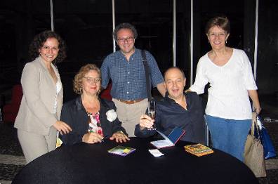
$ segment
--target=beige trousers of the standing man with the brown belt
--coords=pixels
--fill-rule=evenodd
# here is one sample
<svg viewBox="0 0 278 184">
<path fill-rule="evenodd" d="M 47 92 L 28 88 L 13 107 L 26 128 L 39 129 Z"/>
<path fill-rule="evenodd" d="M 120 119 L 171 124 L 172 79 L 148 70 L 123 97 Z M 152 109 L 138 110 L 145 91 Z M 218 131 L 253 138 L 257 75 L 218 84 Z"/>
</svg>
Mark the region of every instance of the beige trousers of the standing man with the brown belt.
<svg viewBox="0 0 278 184">
<path fill-rule="evenodd" d="M 117 115 L 119 121 L 121 121 L 121 126 L 126 129 L 128 137 L 134 137 L 135 125 L 139 124 L 141 115 L 146 113 L 147 98 L 133 104 L 122 103 L 114 98 L 112 100 L 117 107 Z"/>
</svg>

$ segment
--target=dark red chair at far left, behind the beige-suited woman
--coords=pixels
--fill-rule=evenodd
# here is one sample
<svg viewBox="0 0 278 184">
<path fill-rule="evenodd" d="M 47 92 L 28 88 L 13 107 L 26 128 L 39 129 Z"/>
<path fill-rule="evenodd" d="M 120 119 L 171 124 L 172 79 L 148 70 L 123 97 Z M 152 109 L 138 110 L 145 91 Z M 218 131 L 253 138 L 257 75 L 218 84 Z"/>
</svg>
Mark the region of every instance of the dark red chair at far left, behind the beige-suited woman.
<svg viewBox="0 0 278 184">
<path fill-rule="evenodd" d="M 15 121 L 15 117 L 18 115 L 22 95 L 22 86 L 20 84 L 13 86 L 11 103 L 8 103 L 3 107 L 4 122 Z"/>
</svg>

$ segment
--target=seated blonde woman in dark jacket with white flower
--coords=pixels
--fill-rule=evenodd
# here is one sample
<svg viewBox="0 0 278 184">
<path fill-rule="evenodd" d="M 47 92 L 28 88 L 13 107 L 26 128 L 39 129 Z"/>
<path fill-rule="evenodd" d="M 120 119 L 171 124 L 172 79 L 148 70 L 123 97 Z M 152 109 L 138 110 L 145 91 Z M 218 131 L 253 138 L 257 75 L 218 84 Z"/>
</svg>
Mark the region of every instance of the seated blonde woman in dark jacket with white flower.
<svg viewBox="0 0 278 184">
<path fill-rule="evenodd" d="M 72 132 L 60 135 L 63 145 L 75 143 L 101 143 L 104 138 L 126 142 L 129 140 L 125 129 L 117 118 L 112 101 L 101 99 L 100 69 L 88 64 L 74 77 L 74 92 L 80 96 L 62 107 L 61 120 L 72 127 Z"/>
</svg>

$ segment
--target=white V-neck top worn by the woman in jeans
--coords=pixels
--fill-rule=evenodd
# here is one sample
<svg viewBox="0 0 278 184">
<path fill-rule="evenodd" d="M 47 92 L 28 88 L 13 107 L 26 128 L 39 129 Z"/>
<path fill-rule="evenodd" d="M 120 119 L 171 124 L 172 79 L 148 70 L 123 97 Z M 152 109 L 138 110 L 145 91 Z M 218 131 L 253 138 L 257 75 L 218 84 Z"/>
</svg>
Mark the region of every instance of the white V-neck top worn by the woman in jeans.
<svg viewBox="0 0 278 184">
<path fill-rule="evenodd" d="M 252 67 L 244 51 L 233 48 L 223 66 L 214 64 L 208 53 L 199 59 L 191 91 L 204 93 L 210 84 L 206 114 L 225 119 L 252 119 L 248 90 L 256 90 Z"/>
</svg>

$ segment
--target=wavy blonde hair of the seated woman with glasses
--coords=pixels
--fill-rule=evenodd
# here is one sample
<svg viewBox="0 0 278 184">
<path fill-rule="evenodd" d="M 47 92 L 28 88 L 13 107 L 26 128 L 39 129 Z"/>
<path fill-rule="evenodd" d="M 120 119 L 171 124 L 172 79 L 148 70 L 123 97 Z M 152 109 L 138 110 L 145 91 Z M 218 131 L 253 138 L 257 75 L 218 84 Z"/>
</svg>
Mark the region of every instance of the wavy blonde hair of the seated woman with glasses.
<svg viewBox="0 0 278 184">
<path fill-rule="evenodd" d="M 87 64 L 84 65 L 83 67 L 80 68 L 79 72 L 74 76 L 74 80 L 73 80 L 73 90 L 75 93 L 81 95 L 82 94 L 82 79 L 85 77 L 85 75 L 90 71 L 90 70 L 95 70 L 100 78 L 101 78 L 101 72 L 100 72 L 100 68 L 97 67 L 94 64 Z M 101 82 L 101 81 L 100 81 Z M 100 91 L 102 90 L 102 87 L 100 85 L 100 90 L 98 91 L 98 94 L 100 94 Z"/>
</svg>

